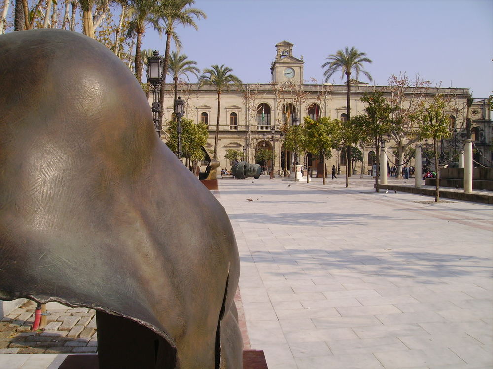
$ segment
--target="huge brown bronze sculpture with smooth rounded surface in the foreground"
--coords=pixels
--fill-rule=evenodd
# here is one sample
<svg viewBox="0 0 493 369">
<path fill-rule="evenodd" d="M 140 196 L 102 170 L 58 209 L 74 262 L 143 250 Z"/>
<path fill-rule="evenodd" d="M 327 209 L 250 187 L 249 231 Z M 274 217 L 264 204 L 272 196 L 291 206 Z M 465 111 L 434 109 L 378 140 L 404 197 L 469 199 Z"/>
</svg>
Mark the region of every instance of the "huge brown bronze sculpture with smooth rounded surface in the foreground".
<svg viewBox="0 0 493 369">
<path fill-rule="evenodd" d="M 231 224 L 136 78 L 75 32 L 0 50 L 0 298 L 96 309 L 100 369 L 241 368 Z"/>
</svg>

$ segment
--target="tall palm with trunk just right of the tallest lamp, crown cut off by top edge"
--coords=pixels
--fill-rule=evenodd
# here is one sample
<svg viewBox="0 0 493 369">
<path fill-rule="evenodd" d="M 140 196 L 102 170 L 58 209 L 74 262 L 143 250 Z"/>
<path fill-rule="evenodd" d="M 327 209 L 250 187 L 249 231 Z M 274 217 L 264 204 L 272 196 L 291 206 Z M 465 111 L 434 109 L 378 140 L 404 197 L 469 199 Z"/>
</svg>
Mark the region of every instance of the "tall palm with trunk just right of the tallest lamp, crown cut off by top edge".
<svg viewBox="0 0 493 369">
<path fill-rule="evenodd" d="M 171 39 L 175 42 L 176 49 L 179 51 L 181 42 L 178 34 L 175 32 L 177 25 L 192 26 L 195 30 L 198 29 L 194 18 L 206 18 L 206 14 L 196 8 L 190 7 L 195 3 L 195 0 L 163 0 L 160 5 L 159 14 L 160 20 L 163 22 L 163 28 L 166 33 L 166 48 L 164 52 L 164 70 L 168 70 L 170 59 L 170 44 Z M 166 83 L 166 73 L 163 76 L 161 83 L 161 91 L 159 92 L 159 104 L 164 106 L 164 88 Z M 163 124 L 163 114 L 160 113 L 159 124 Z"/>
</svg>

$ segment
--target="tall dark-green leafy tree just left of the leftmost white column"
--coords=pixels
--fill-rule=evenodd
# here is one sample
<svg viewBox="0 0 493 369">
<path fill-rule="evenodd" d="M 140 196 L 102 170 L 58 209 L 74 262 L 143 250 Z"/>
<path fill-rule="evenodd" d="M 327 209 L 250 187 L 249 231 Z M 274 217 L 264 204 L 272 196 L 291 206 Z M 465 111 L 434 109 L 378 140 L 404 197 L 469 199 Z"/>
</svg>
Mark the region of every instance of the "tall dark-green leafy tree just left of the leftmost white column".
<svg viewBox="0 0 493 369">
<path fill-rule="evenodd" d="M 365 93 L 360 100 L 367 104 L 366 114 L 356 116 L 353 123 L 361 127 L 361 131 L 370 137 L 375 145 L 375 161 L 377 164 L 377 173 L 375 174 L 375 192 L 380 192 L 379 172 L 380 172 L 380 145 L 382 136 L 387 135 L 392 128 L 391 113 L 394 110 L 385 99 L 383 92 L 373 91 Z"/>
</svg>

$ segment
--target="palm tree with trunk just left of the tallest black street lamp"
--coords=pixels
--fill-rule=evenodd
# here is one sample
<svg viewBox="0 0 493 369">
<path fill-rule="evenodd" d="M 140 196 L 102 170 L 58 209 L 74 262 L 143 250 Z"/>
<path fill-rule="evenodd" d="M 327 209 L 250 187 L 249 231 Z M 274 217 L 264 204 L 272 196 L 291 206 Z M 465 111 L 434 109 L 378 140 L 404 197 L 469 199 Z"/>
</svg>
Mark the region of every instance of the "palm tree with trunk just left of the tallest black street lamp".
<svg viewBox="0 0 493 369">
<path fill-rule="evenodd" d="M 132 9 L 132 18 L 129 25 L 129 34 L 136 34 L 137 41 L 135 43 L 135 77 L 142 83 L 142 54 L 141 43 L 145 29 L 151 25 L 161 34 L 162 27 L 159 25 L 159 7 L 157 0 L 130 0 L 130 8 Z M 161 105 L 162 106 L 162 105 Z"/>
</svg>

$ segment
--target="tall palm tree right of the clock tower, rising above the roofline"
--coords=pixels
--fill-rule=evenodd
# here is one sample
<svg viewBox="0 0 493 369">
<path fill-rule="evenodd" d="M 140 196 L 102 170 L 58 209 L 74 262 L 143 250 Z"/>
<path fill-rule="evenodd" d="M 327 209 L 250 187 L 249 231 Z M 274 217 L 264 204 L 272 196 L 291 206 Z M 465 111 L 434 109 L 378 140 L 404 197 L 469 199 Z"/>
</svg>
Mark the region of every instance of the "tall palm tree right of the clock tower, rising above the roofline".
<svg viewBox="0 0 493 369">
<path fill-rule="evenodd" d="M 346 74 L 346 84 L 347 84 L 347 95 L 346 95 L 346 119 L 349 121 L 350 119 L 350 98 L 351 98 L 351 73 L 354 72 L 356 84 L 358 83 L 359 73 L 363 73 L 370 81 L 372 78 L 370 74 L 363 69 L 363 62 L 371 63 L 372 61 L 366 58 L 365 53 L 360 53 L 358 49 L 354 46 L 349 49 L 348 47 L 345 50 L 338 50 L 335 54 L 329 55 L 327 58 L 328 62 L 322 64 L 322 68 L 327 68 L 323 72 L 323 76 L 325 77 L 325 82 L 329 81 L 329 78 L 338 70 L 342 72 L 341 79 L 344 78 Z M 351 177 L 351 151 L 348 152 L 349 158 L 346 161 L 346 172 L 348 172 L 348 176 Z"/>
</svg>

